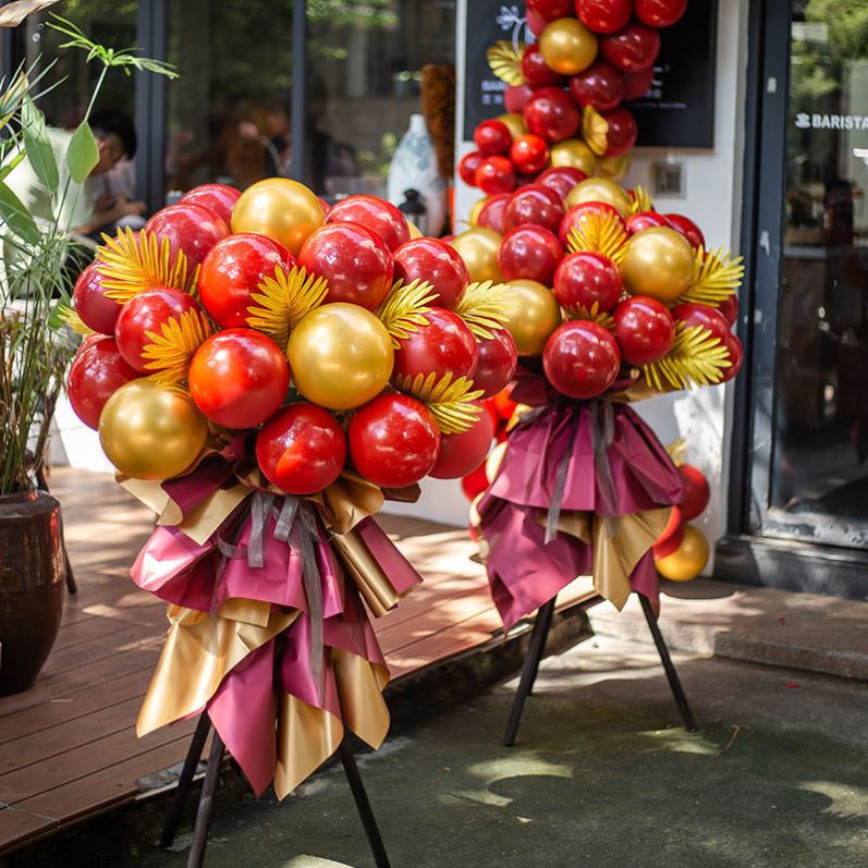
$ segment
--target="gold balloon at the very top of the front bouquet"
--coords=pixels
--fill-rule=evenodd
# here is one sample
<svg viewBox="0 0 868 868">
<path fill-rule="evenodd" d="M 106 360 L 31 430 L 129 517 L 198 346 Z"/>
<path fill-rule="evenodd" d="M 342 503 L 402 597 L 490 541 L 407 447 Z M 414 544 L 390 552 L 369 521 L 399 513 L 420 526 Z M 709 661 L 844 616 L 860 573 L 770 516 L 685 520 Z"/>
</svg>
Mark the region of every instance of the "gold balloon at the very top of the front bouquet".
<svg viewBox="0 0 868 868">
<path fill-rule="evenodd" d="M 233 232 L 258 232 L 289 247 L 293 256 L 307 236 L 322 225 L 319 199 L 304 184 L 289 178 L 257 181 L 241 194 L 232 209 Z"/>
</svg>

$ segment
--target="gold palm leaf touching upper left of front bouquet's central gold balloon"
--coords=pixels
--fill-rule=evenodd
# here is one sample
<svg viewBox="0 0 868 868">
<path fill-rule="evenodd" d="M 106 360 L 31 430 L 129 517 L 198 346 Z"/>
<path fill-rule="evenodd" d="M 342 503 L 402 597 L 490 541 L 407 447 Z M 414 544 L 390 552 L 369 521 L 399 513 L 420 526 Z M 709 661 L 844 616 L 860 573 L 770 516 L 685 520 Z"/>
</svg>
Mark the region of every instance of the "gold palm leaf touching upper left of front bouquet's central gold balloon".
<svg viewBox="0 0 868 868">
<path fill-rule="evenodd" d="M 290 332 L 322 304 L 329 284 L 326 278 L 308 274 L 303 266 L 293 266 L 289 271 L 276 266 L 274 277 L 266 278 L 258 289 L 250 296 L 256 304 L 247 308 L 247 325 L 285 350 Z"/>
</svg>

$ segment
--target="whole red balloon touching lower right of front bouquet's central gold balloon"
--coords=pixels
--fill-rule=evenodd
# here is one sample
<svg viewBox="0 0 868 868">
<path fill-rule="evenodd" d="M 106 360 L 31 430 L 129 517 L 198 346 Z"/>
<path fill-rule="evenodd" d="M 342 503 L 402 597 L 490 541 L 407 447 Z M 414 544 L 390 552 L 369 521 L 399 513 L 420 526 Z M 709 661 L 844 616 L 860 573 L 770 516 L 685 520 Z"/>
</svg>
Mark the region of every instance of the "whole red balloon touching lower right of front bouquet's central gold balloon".
<svg viewBox="0 0 868 868">
<path fill-rule="evenodd" d="M 355 468 L 382 488 L 404 488 L 427 476 L 440 454 L 440 431 L 428 408 L 409 395 L 384 393 L 350 419 Z"/>
</svg>

